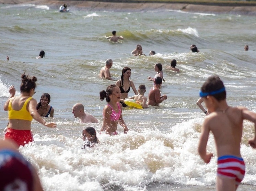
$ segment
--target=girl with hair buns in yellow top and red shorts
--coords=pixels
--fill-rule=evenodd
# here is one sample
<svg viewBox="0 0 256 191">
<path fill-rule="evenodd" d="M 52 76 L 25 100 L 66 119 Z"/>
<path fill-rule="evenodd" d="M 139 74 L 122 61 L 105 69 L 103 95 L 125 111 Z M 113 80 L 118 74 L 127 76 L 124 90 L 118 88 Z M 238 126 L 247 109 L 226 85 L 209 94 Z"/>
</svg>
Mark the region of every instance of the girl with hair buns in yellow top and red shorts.
<svg viewBox="0 0 256 191">
<path fill-rule="evenodd" d="M 19 146 L 33 141 L 31 121 L 34 118 L 46 127 L 56 127 L 56 123 L 46 123 L 36 111 L 36 100 L 32 96 L 36 93 L 36 77 L 21 76 L 20 96 L 15 96 L 14 86 L 10 87 L 11 96 L 5 102 L 3 109 L 8 111 L 9 124 L 5 138 L 13 139 Z"/>
</svg>

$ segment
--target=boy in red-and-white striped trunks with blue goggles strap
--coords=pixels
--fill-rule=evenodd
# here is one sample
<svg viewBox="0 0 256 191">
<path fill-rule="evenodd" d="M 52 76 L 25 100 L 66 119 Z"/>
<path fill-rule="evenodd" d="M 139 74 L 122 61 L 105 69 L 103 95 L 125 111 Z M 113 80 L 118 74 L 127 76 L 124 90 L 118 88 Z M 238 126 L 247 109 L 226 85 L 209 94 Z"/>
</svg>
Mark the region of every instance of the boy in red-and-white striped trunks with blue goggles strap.
<svg viewBox="0 0 256 191">
<path fill-rule="evenodd" d="M 256 113 L 244 107 L 228 106 L 225 87 L 217 76 L 209 77 L 202 85 L 200 97 L 204 99 L 210 114 L 202 125 L 199 155 L 206 163 L 210 162 L 213 154 L 206 152 L 206 146 L 212 131 L 218 156 L 217 191 L 235 191 L 245 174 L 245 164 L 240 153 L 243 120 L 253 122 L 256 129 Z M 248 143 L 256 148 L 256 135 Z"/>
</svg>

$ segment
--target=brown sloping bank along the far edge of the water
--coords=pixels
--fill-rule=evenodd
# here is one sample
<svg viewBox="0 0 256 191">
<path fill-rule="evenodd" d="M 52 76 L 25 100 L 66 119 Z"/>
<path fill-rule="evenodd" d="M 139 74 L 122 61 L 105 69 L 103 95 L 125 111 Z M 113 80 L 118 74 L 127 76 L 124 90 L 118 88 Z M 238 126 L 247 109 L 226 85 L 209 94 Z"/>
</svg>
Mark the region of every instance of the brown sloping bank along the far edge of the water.
<svg viewBox="0 0 256 191">
<path fill-rule="evenodd" d="M 2 4 L 22 4 L 31 3 L 36 5 L 47 5 L 50 8 L 58 9 L 60 5 L 66 3 L 69 8 L 76 7 L 88 10 L 130 10 L 142 11 L 150 9 L 171 9 L 182 10 L 187 12 L 203 12 L 203 13 L 229 13 L 256 15 L 256 4 L 250 6 L 236 5 L 203 5 L 203 4 L 186 4 L 186 3 L 126 3 L 126 2 L 101 2 L 101 1 L 62 1 L 62 0 L 0 0 Z"/>
</svg>

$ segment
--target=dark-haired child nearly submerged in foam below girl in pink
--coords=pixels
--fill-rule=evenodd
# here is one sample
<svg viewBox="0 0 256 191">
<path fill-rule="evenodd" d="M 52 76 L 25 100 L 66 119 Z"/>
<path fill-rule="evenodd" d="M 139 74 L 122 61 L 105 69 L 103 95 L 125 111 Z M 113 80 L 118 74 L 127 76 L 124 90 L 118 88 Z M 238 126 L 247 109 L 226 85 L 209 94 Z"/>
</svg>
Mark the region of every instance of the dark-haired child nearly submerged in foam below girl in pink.
<svg viewBox="0 0 256 191">
<path fill-rule="evenodd" d="M 82 131 L 83 140 L 85 143 L 83 144 L 83 148 L 85 147 L 94 147 L 95 143 L 100 143 L 97 138 L 95 128 L 93 127 L 86 127 Z"/>
</svg>

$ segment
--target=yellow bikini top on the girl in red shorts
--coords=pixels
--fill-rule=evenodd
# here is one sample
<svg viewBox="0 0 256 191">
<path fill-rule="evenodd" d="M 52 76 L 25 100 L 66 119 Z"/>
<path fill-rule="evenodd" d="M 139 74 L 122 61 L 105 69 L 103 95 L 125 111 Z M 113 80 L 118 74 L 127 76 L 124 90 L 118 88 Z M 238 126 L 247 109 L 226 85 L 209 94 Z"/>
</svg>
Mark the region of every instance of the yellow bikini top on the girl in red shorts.
<svg viewBox="0 0 256 191">
<path fill-rule="evenodd" d="M 32 97 L 27 98 L 24 105 L 22 106 L 22 108 L 19 111 L 12 109 L 12 100 L 13 99 L 10 99 L 9 105 L 8 105 L 9 119 L 23 119 L 23 120 L 27 120 L 27 121 L 32 121 L 33 118 L 31 116 L 31 114 L 27 111 L 27 103 L 31 99 L 32 99 Z"/>
</svg>

